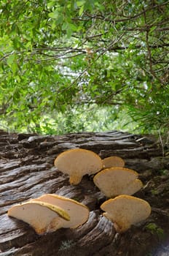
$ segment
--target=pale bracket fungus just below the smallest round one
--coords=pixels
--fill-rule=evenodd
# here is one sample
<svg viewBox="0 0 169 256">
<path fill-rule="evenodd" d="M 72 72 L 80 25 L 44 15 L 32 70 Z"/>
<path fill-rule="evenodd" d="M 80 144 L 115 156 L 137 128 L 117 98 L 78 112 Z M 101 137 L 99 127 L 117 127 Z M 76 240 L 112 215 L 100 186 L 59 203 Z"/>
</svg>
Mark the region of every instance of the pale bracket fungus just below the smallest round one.
<svg viewBox="0 0 169 256">
<path fill-rule="evenodd" d="M 137 179 L 138 173 L 124 167 L 111 167 L 101 170 L 93 178 L 95 185 L 106 197 L 133 195 L 143 184 Z"/>
</svg>

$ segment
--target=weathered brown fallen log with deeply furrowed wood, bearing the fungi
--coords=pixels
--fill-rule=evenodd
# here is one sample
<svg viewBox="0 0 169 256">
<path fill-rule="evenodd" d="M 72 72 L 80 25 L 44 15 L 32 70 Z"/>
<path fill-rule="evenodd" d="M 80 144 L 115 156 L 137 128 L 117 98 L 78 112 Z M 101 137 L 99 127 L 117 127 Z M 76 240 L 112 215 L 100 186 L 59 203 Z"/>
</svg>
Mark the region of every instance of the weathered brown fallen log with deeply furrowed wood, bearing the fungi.
<svg viewBox="0 0 169 256">
<path fill-rule="evenodd" d="M 154 138 L 124 132 L 28 135 L 0 132 L 0 255 L 167 256 L 169 255 L 169 157 Z M 144 188 L 135 194 L 147 200 L 152 214 L 146 221 L 117 234 L 100 209 L 106 197 L 84 176 L 76 186 L 53 166 L 69 148 L 86 148 L 101 158 L 116 155 L 136 170 Z M 164 152 L 163 152 L 164 153 Z M 16 203 L 55 193 L 90 208 L 88 221 L 74 230 L 60 229 L 38 236 L 24 222 L 7 217 Z"/>
</svg>

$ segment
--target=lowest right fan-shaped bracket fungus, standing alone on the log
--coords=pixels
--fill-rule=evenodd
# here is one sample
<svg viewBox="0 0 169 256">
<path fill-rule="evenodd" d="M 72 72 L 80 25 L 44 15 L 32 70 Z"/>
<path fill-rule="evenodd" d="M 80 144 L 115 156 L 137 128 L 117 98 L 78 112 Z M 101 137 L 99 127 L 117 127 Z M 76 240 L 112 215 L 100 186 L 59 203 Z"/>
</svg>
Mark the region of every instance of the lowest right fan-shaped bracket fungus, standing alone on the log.
<svg viewBox="0 0 169 256">
<path fill-rule="evenodd" d="M 101 205 L 103 215 L 114 222 L 118 233 L 125 232 L 131 225 L 143 221 L 151 214 L 151 206 L 143 199 L 131 195 L 119 195 Z"/>
</svg>

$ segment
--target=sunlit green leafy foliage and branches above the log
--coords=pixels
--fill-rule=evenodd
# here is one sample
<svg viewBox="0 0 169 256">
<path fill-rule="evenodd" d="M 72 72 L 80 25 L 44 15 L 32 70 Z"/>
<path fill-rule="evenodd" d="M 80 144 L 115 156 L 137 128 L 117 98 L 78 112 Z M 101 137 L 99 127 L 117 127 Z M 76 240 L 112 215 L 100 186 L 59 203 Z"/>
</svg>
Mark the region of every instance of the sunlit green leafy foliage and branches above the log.
<svg viewBox="0 0 169 256">
<path fill-rule="evenodd" d="M 1 127 L 168 130 L 169 1 L 1 0 L 0 28 Z"/>
</svg>

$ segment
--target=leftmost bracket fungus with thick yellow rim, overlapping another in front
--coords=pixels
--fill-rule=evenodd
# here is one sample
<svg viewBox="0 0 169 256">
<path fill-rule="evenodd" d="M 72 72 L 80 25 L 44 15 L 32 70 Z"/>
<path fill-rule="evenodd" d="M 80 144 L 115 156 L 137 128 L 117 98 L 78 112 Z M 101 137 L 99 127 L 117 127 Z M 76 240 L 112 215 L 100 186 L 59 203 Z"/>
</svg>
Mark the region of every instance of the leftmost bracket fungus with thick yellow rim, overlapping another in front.
<svg viewBox="0 0 169 256">
<path fill-rule="evenodd" d="M 34 200 L 12 206 L 9 208 L 8 216 L 28 223 L 39 235 L 58 230 L 62 219 L 67 222 L 70 219 L 62 208 Z"/>
</svg>

